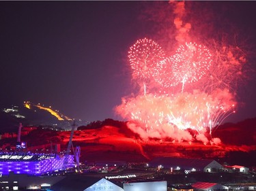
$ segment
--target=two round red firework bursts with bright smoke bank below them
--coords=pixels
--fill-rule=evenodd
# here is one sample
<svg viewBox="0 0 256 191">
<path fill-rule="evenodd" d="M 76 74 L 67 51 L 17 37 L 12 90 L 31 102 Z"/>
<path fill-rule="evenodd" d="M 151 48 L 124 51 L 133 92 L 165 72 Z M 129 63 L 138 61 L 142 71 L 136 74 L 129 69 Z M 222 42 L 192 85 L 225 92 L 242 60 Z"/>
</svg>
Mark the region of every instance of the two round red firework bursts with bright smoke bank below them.
<svg viewBox="0 0 256 191">
<path fill-rule="evenodd" d="M 143 43 L 143 49 L 141 49 L 141 43 Z M 153 45 L 155 48 L 152 48 Z M 205 137 L 206 129 L 208 128 L 211 134 L 215 126 L 234 113 L 236 101 L 235 94 L 223 86 L 211 91 L 195 88 L 198 82 L 203 84 L 207 81 L 208 84 L 211 80 L 211 75 L 205 75 L 212 69 L 211 65 L 216 64 L 212 60 L 210 51 L 205 46 L 186 43 L 185 46 L 180 46 L 171 58 L 162 58 L 163 53 L 159 53 L 162 52 L 159 46 L 147 39 L 137 41 L 131 50 L 134 50 L 129 52 L 132 76 L 136 76 L 137 80 L 143 80 L 143 82 L 155 80 L 158 86 L 155 83 L 154 91 L 149 88 L 147 94 L 144 92 L 137 97 L 124 98 L 122 105 L 116 108 L 117 113 L 123 118 L 133 121 L 129 125 L 130 128 L 145 139 L 171 137 L 179 142 L 193 139 L 205 144 L 221 142 L 209 141 Z M 150 62 L 145 61 L 146 58 L 150 58 Z M 146 63 L 148 65 L 145 65 Z M 218 75 L 221 77 L 225 73 Z M 185 82 L 188 82 L 186 88 L 184 88 Z M 182 88 L 177 86 L 179 83 L 182 84 Z M 140 85 L 145 86 L 145 83 Z M 162 89 L 168 89 L 171 86 L 177 86 L 171 94 L 161 92 Z M 198 135 L 193 138 L 188 131 L 185 131 L 188 129 L 197 131 Z"/>
</svg>

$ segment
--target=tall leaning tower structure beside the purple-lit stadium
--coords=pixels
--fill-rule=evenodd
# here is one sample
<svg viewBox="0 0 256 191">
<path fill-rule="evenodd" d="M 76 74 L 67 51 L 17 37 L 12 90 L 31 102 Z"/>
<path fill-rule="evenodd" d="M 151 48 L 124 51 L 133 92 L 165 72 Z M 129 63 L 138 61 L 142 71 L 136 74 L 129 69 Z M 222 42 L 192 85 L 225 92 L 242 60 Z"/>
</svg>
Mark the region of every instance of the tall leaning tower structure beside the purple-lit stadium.
<svg viewBox="0 0 256 191">
<path fill-rule="evenodd" d="M 74 135 L 74 128 L 75 127 L 76 127 L 76 124 L 75 124 L 75 122 L 73 122 L 72 128 L 71 128 L 71 133 L 70 133 L 70 141 L 68 141 L 68 148 L 66 150 L 66 154 L 65 154 L 64 160 L 63 160 L 63 166 L 62 166 L 63 170 L 66 170 L 69 167 L 70 163 L 68 162 L 68 158 L 70 156 L 70 150 L 71 150 L 71 147 L 72 147 L 72 150 L 74 152 L 74 160 L 76 162 L 76 168 L 77 168 L 78 171 L 80 171 L 80 169 L 79 169 L 80 147 L 77 146 L 76 150 L 74 151 L 74 147 L 73 147 L 73 144 L 72 144 L 72 138 L 73 138 L 73 135 Z"/>
</svg>

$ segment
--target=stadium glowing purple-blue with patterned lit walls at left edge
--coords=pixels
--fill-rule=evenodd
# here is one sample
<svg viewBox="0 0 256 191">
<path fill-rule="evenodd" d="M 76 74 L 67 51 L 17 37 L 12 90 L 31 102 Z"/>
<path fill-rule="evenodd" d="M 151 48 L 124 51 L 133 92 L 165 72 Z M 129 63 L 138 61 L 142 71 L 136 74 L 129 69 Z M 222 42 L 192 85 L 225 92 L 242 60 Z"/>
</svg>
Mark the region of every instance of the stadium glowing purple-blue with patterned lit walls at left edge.
<svg viewBox="0 0 256 191">
<path fill-rule="evenodd" d="M 73 155 L 64 156 L 58 154 L 31 154 L 19 152 L 0 153 L 1 175 L 9 175 L 11 171 L 15 174 L 42 175 L 72 167 L 74 167 Z"/>
</svg>

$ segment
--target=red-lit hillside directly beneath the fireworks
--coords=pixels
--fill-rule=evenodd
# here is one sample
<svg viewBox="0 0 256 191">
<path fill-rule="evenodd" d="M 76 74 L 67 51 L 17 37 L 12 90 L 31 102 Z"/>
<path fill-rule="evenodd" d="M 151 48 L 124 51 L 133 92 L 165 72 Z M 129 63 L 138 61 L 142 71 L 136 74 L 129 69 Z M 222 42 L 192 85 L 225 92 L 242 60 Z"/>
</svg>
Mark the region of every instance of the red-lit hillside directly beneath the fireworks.
<svg viewBox="0 0 256 191">
<path fill-rule="evenodd" d="M 249 124 L 254 122 L 255 120 L 249 120 Z M 116 126 L 106 125 L 111 123 L 115 123 Z M 248 121 L 246 120 L 245 123 Z M 221 137 L 223 144 L 203 145 L 203 143 L 173 143 L 156 139 L 143 141 L 125 126 L 125 122 L 107 119 L 103 122 L 94 122 L 94 125 L 79 127 L 79 130 L 74 131 L 72 142 L 74 147 L 81 147 L 81 162 L 102 160 L 147 162 L 158 156 L 176 156 L 216 158 L 216 160 L 229 162 L 229 164 L 253 166 L 256 161 L 255 134 L 253 134 L 255 128 L 248 128 L 251 132 L 248 133 L 249 137 L 243 137 L 244 140 L 253 140 L 241 144 L 241 135 L 233 131 L 234 129 L 242 131 L 242 129 L 239 130 L 242 124 L 243 122 L 240 122 L 238 126 L 235 124 L 220 126 L 214 133 Z M 234 137 L 226 141 L 223 137 L 229 132 L 229 135 L 234 135 Z M 51 147 L 54 148 L 57 144 L 61 145 L 61 151 L 65 151 L 69 139 L 70 131 L 53 131 L 48 128 L 38 128 L 22 137 L 31 152 L 51 152 Z M 14 144 L 15 141 L 16 139 L 12 143 Z"/>
</svg>

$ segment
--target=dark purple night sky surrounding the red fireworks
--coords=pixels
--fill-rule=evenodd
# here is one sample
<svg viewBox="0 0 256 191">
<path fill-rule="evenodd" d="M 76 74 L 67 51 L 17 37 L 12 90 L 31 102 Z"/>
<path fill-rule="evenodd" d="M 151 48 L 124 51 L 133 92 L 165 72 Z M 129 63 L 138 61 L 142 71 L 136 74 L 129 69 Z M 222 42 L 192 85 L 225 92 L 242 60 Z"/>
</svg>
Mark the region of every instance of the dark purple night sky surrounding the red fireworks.
<svg viewBox="0 0 256 191">
<path fill-rule="evenodd" d="M 31 101 L 51 105 L 71 118 L 120 119 L 113 107 L 133 91 L 128 48 L 150 26 L 139 19 L 141 4 L 1 1 L 1 108 Z M 233 8 L 234 24 L 255 35 L 256 1 Z M 245 105 L 230 120 L 256 116 L 255 88 L 253 80 L 240 88 Z"/>
</svg>

